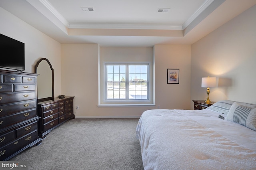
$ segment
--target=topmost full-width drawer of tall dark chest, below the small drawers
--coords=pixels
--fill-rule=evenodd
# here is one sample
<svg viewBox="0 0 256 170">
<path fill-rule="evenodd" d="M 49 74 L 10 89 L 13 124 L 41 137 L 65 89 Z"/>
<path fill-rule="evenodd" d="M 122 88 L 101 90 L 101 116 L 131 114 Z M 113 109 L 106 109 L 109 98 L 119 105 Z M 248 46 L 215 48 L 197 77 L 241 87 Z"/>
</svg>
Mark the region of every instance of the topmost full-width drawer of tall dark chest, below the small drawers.
<svg viewBox="0 0 256 170">
<path fill-rule="evenodd" d="M 0 94 L 0 105 L 32 99 L 36 99 L 36 92 Z"/>
</svg>

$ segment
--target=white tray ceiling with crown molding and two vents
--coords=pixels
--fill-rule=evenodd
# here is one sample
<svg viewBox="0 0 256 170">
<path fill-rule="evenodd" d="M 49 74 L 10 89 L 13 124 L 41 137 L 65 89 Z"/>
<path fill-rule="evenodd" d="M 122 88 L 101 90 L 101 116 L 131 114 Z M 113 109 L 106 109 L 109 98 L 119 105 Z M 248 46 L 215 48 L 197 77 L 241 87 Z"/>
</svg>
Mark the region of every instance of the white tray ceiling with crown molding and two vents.
<svg viewBox="0 0 256 170">
<path fill-rule="evenodd" d="M 255 4 L 256 0 L 0 1 L 0 7 L 60 43 L 101 46 L 192 44 Z"/>
</svg>

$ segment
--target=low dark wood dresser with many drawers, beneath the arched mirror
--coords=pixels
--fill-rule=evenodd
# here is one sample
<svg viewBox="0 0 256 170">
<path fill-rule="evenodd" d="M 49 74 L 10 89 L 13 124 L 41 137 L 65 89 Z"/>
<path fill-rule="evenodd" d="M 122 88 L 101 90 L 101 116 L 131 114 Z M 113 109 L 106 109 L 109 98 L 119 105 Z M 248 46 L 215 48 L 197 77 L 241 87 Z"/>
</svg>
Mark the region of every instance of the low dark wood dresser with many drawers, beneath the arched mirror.
<svg viewBox="0 0 256 170">
<path fill-rule="evenodd" d="M 54 98 L 51 101 L 38 103 L 39 136 L 45 138 L 50 131 L 69 119 L 74 119 L 74 97 Z"/>
</svg>

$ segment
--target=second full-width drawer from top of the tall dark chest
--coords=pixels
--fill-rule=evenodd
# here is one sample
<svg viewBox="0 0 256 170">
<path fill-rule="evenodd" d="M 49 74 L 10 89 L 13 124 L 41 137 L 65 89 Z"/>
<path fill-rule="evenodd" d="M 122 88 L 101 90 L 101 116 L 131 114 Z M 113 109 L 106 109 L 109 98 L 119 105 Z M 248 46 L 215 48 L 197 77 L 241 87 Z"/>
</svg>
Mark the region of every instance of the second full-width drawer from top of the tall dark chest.
<svg viewBox="0 0 256 170">
<path fill-rule="evenodd" d="M 26 111 L 34 108 L 36 108 L 36 100 L 15 103 L 10 105 L 0 105 L 0 117 L 4 117 L 7 115 L 11 115 L 13 113 L 18 113 L 21 111 Z"/>
</svg>

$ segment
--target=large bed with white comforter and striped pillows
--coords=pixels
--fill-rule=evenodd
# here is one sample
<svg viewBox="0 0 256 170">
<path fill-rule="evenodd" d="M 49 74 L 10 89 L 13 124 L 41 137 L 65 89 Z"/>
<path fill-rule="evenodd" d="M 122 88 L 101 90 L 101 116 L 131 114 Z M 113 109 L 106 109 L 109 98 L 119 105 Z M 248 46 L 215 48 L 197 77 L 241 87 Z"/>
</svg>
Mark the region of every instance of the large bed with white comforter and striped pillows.
<svg viewBox="0 0 256 170">
<path fill-rule="evenodd" d="M 145 111 L 136 134 L 144 170 L 256 170 L 255 130 L 256 105 L 225 100 Z"/>
</svg>

